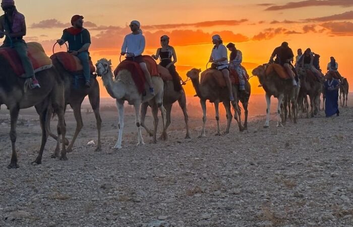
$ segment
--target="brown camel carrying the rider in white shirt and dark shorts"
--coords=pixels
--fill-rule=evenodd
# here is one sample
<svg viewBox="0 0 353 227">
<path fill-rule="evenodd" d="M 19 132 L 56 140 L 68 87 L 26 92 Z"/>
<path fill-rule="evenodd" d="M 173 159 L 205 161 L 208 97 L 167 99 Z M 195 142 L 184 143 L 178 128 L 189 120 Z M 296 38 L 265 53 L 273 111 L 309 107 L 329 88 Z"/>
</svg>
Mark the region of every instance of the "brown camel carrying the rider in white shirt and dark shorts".
<svg viewBox="0 0 353 227">
<path fill-rule="evenodd" d="M 203 125 L 201 135 L 199 137 L 206 137 L 205 127 L 207 121 L 206 115 L 206 100 L 209 100 L 211 103 L 214 103 L 214 108 L 216 112 L 216 121 L 217 121 L 217 133 L 216 135 L 221 135 L 219 128 L 219 102 L 222 102 L 226 111 L 227 118 L 227 126 L 225 129 L 225 133 L 229 133 L 230 123 L 232 119 L 231 111 L 230 111 L 230 100 L 229 100 L 229 92 L 227 89 L 223 87 L 219 87 L 214 81 L 214 77 L 211 77 L 213 80 L 208 80 L 207 82 L 200 84 L 199 74 L 201 73 L 201 69 L 192 69 L 187 72 L 187 76 L 191 79 L 193 86 L 195 88 L 197 96 L 200 98 L 201 107 L 203 110 Z M 206 73 L 213 73 L 213 71 L 208 71 Z M 235 97 L 234 97 L 235 99 Z M 240 125 L 240 129 L 243 130 Z"/>
</svg>

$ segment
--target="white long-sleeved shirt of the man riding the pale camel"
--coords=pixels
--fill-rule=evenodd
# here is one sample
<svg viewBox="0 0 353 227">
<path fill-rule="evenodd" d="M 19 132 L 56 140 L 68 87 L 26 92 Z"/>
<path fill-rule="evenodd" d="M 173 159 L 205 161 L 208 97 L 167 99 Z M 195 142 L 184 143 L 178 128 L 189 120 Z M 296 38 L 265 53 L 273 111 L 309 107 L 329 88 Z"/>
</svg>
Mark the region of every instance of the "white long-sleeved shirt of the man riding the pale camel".
<svg viewBox="0 0 353 227">
<path fill-rule="evenodd" d="M 134 53 L 134 56 L 139 56 L 142 55 L 145 50 L 145 46 L 145 36 L 141 33 L 137 35 L 131 33 L 124 38 L 122 52 Z"/>
</svg>

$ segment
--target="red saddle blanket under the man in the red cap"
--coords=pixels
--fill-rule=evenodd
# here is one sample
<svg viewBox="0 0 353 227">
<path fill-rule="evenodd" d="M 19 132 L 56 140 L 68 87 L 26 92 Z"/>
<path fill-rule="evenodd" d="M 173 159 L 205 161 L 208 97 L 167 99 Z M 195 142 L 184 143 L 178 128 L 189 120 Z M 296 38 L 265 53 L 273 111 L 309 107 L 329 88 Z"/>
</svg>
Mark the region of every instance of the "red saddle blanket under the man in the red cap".
<svg viewBox="0 0 353 227">
<path fill-rule="evenodd" d="M 57 61 L 59 61 L 63 65 L 64 69 L 66 69 L 71 73 L 76 73 L 83 70 L 80 59 L 77 58 L 77 56 L 74 56 L 68 52 L 54 53 L 53 55 L 50 56 L 50 59 L 53 60 L 54 58 L 56 58 Z M 89 59 L 89 66 L 90 66 L 90 73 L 91 74 L 94 73 L 96 69 L 94 68 L 91 59 Z"/>
</svg>

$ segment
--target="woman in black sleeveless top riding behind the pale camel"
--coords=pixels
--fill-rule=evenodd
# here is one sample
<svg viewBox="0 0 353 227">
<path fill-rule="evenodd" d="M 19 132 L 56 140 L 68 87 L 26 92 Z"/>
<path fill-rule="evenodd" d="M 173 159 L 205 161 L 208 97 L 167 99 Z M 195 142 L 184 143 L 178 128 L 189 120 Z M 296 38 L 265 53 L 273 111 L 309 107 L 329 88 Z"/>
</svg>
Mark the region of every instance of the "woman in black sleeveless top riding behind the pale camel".
<svg viewBox="0 0 353 227">
<path fill-rule="evenodd" d="M 157 49 L 156 54 L 152 54 L 152 58 L 157 60 L 160 58 L 159 65 L 168 69 L 172 79 L 175 91 L 182 91 L 183 87 L 180 83 L 180 76 L 175 69 L 174 64 L 177 63 L 177 53 L 175 53 L 175 49 L 169 45 L 169 37 L 167 35 L 163 35 L 160 37 L 161 48 Z M 173 61 L 171 61 L 173 58 Z"/>
</svg>

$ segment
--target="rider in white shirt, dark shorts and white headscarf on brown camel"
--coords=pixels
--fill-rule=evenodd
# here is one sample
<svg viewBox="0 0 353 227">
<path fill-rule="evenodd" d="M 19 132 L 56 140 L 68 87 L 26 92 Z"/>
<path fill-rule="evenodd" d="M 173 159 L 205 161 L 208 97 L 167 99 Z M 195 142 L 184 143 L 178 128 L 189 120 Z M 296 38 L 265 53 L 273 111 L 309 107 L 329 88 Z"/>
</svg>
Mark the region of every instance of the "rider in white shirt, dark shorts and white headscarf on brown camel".
<svg viewBox="0 0 353 227">
<path fill-rule="evenodd" d="M 231 82 L 228 70 L 228 53 L 227 48 L 223 45 L 223 40 L 219 35 L 212 36 L 214 47 L 211 52 L 209 62 L 212 63 L 212 68 L 222 72 L 229 91 L 229 100 L 234 101 Z"/>
</svg>

